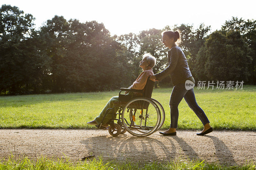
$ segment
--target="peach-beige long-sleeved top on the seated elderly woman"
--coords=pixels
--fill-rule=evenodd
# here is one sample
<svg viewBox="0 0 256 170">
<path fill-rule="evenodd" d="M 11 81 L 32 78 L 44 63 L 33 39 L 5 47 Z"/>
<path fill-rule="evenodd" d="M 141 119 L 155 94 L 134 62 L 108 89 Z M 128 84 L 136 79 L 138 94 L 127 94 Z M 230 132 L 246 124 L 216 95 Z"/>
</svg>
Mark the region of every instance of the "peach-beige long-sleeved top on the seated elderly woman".
<svg viewBox="0 0 256 170">
<path fill-rule="evenodd" d="M 152 68 L 148 66 L 147 69 L 142 71 L 142 73 L 140 73 L 140 76 L 128 88 L 136 89 L 136 90 L 144 89 L 144 87 L 147 83 L 148 77 L 152 76 L 153 74 L 154 74 L 154 72 L 153 72 Z M 155 81 L 155 80 L 152 80 L 152 81 Z"/>
</svg>

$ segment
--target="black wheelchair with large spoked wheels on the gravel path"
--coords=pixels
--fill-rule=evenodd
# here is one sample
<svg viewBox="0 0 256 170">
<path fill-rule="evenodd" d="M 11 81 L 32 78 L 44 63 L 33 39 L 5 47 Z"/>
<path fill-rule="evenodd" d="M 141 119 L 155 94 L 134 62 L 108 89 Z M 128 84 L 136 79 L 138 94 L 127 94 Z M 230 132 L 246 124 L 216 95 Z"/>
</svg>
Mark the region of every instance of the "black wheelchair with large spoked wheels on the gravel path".
<svg viewBox="0 0 256 170">
<path fill-rule="evenodd" d="M 111 136 L 118 136 L 128 131 L 136 137 L 146 137 L 160 129 L 164 124 L 165 112 L 163 106 L 155 99 L 152 99 L 152 92 L 155 82 L 148 78 L 143 90 L 121 88 L 118 101 L 113 108 L 108 108 L 99 125 L 107 114 L 112 114 L 112 119 L 107 123 L 108 132 Z M 141 94 L 141 97 L 134 97 L 131 94 L 121 94 L 121 92 L 134 92 Z M 118 118 L 114 118 L 114 108 L 118 107 Z M 112 110 L 112 112 L 111 112 Z M 115 123 L 116 122 L 116 123 Z"/>
</svg>

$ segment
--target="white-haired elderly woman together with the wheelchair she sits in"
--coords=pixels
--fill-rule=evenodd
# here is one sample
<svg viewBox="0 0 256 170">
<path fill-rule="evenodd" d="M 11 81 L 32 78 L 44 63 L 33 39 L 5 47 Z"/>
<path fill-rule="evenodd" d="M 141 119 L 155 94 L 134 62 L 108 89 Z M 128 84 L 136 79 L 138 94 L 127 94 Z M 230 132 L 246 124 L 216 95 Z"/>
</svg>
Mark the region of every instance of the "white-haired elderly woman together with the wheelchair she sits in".
<svg viewBox="0 0 256 170">
<path fill-rule="evenodd" d="M 134 136 L 144 137 L 160 129 L 164 121 L 163 118 L 161 122 L 161 111 L 164 114 L 164 109 L 158 101 L 151 99 L 155 81 L 149 79 L 151 75 L 154 75 L 152 68 L 155 64 L 154 56 L 149 53 L 144 54 L 140 61 L 143 71 L 139 77 L 130 87 L 121 88 L 119 95 L 112 97 L 100 115 L 87 124 L 95 125 L 100 129 L 108 129 L 112 136 L 128 131 Z M 116 119 L 117 111 L 118 119 Z"/>
</svg>

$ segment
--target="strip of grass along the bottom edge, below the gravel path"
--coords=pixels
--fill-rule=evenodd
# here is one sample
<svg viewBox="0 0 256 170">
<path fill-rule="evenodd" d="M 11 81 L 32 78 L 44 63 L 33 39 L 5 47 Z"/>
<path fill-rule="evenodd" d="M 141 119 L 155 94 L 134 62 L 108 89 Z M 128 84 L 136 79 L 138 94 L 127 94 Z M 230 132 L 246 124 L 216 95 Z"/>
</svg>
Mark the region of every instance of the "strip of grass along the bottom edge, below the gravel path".
<svg viewBox="0 0 256 170">
<path fill-rule="evenodd" d="M 102 161 L 101 158 L 94 158 L 92 160 L 88 160 L 85 162 L 71 162 L 68 160 L 59 159 L 58 161 L 53 161 L 51 159 L 47 159 L 41 157 L 40 159 L 33 161 L 28 158 L 15 160 L 13 157 L 10 157 L 8 160 L 0 161 L 0 170 L 2 169 L 13 169 L 13 170 L 21 170 L 21 169 L 37 169 L 37 170 L 55 170 L 55 169 L 88 169 L 88 170 L 100 170 L 100 169 L 139 169 L 139 170 L 149 170 L 149 169 L 157 169 L 157 170 L 165 170 L 165 169 L 209 169 L 209 170 L 219 170 L 219 169 L 237 169 L 237 170 L 255 170 L 256 166 L 253 163 L 247 163 L 241 166 L 222 166 L 215 164 L 208 164 L 204 161 L 171 161 L 166 164 L 156 163 L 156 162 L 137 162 L 137 163 L 122 163 L 115 161 Z"/>
</svg>

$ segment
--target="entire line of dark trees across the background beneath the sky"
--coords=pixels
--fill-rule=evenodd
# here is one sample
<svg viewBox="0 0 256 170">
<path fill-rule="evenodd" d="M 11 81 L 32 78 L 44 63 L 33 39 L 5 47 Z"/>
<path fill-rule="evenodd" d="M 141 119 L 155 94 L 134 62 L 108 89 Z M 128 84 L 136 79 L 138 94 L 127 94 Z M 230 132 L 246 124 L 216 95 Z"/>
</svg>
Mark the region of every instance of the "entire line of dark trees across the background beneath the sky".
<svg viewBox="0 0 256 170">
<path fill-rule="evenodd" d="M 16 6 L 0 9 L 0 93 L 89 92 L 128 87 L 140 74 L 145 52 L 167 65 L 163 30 L 181 31 L 180 47 L 196 81 L 256 84 L 256 22 L 231 18 L 220 30 L 181 24 L 111 36 L 102 23 L 54 16 L 39 29 Z M 158 86 L 171 85 L 170 77 Z"/>
</svg>

